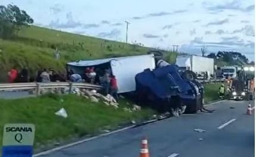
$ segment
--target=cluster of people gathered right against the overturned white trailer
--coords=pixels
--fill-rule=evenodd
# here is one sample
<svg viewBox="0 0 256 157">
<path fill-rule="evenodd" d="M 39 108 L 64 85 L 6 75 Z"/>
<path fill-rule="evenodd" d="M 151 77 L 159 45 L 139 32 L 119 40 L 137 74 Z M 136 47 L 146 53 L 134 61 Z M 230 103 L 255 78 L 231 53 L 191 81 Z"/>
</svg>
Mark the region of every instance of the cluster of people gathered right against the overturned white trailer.
<svg viewBox="0 0 256 157">
<path fill-rule="evenodd" d="M 88 67 L 85 69 L 82 76 L 80 74 L 74 73 L 73 70 L 68 71 L 68 79 L 73 82 L 86 82 L 92 84 L 98 84 L 103 86 L 106 94 L 110 94 L 115 99 L 118 99 L 118 86 L 117 79 L 109 68 L 96 68 Z"/>
</svg>

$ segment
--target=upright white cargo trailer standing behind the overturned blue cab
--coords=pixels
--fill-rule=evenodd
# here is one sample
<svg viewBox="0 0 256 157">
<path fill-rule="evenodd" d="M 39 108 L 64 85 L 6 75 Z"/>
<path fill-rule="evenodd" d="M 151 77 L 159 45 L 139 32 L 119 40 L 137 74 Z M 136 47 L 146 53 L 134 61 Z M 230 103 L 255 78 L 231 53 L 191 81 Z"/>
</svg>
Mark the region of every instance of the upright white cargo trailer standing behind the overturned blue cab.
<svg viewBox="0 0 256 157">
<path fill-rule="evenodd" d="M 205 71 L 209 72 L 210 74 L 214 74 L 213 58 L 197 55 L 179 55 L 176 59 L 176 65 L 198 74 Z"/>
</svg>

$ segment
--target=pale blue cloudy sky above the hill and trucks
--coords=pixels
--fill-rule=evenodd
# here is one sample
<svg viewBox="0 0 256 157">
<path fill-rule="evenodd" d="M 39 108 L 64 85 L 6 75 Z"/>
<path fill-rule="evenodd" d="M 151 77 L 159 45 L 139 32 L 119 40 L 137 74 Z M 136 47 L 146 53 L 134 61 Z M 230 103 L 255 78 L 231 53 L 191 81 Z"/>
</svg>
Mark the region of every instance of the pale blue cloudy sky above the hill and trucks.
<svg viewBox="0 0 256 157">
<path fill-rule="evenodd" d="M 25 10 L 36 26 L 152 48 L 201 54 L 238 51 L 254 60 L 254 0 L 0 0 Z"/>
</svg>

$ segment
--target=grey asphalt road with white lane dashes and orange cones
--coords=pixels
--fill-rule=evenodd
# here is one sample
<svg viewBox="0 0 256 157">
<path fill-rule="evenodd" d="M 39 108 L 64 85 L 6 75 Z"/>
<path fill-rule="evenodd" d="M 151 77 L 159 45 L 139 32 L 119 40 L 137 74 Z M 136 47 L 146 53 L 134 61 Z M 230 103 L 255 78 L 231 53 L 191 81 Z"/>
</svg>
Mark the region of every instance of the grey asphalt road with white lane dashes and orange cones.
<svg viewBox="0 0 256 157">
<path fill-rule="evenodd" d="M 216 103 L 208 106 L 216 109 L 214 113 L 168 118 L 44 156 L 139 156 L 141 139 L 144 136 L 148 138 L 151 157 L 254 156 L 254 112 L 253 115 L 246 115 L 247 105 L 248 102 L 235 101 Z M 201 128 L 205 132 L 196 132 L 195 128 Z"/>
</svg>

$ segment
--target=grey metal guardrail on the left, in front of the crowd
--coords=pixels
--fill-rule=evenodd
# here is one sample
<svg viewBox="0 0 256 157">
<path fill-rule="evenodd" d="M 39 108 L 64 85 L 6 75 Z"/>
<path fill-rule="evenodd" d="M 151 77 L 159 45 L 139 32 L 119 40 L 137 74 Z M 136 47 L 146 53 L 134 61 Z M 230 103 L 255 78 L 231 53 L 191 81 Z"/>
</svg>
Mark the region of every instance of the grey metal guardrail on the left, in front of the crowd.
<svg viewBox="0 0 256 157">
<path fill-rule="evenodd" d="M 40 95 L 41 89 L 64 89 L 71 90 L 76 88 L 82 89 L 101 89 L 102 86 L 89 83 L 72 83 L 72 82 L 51 82 L 51 83 L 0 83 L 0 91 L 8 90 L 36 90 L 36 95 Z"/>
</svg>

